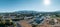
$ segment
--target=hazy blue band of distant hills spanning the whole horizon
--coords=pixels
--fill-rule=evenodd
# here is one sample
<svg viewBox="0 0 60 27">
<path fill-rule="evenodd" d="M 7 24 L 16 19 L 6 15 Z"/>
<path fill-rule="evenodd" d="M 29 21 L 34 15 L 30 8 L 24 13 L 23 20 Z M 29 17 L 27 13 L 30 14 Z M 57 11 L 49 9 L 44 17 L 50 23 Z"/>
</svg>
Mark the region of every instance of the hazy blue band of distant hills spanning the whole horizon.
<svg viewBox="0 0 60 27">
<path fill-rule="evenodd" d="M 55 11 L 55 12 L 37 12 L 37 11 L 15 11 L 15 12 L 6 12 L 6 13 L 0 13 L 0 14 L 55 14 L 58 13 L 60 14 L 60 11 Z"/>
</svg>

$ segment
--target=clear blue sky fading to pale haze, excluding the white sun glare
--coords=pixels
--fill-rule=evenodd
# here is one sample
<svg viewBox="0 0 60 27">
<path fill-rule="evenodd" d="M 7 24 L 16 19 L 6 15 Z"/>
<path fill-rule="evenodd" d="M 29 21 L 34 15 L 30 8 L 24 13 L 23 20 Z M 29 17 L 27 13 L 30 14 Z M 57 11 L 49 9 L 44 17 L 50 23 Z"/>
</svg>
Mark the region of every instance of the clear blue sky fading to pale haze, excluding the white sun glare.
<svg viewBox="0 0 60 27">
<path fill-rule="evenodd" d="M 60 11 L 60 0 L 51 0 L 51 4 L 46 6 L 43 0 L 0 0 L 0 12 L 14 12 L 22 10 L 32 10 L 39 12 Z"/>
</svg>

